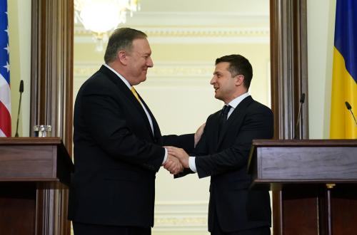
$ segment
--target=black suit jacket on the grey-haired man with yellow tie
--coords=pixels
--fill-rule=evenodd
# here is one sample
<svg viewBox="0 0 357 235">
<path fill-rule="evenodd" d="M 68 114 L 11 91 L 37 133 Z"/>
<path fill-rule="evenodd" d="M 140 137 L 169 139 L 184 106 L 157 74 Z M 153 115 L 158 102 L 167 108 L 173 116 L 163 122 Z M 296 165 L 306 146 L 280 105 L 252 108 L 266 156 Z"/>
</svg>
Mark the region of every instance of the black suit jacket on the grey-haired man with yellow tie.
<svg viewBox="0 0 357 235">
<path fill-rule="evenodd" d="M 74 107 L 74 175 L 69 219 L 87 224 L 153 226 L 155 174 L 162 145 L 193 149 L 193 135 L 161 136 L 141 104 L 106 66 L 81 86 Z"/>
</svg>

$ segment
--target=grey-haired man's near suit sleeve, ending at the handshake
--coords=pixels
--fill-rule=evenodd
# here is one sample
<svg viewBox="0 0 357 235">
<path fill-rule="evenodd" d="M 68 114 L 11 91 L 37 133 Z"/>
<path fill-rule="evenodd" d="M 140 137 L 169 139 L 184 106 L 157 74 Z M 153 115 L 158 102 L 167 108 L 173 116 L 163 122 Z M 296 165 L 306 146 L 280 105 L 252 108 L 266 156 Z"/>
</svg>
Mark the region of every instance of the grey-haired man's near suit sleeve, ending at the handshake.
<svg viewBox="0 0 357 235">
<path fill-rule="evenodd" d="M 80 104 L 84 122 L 81 125 L 88 128 L 88 137 L 111 157 L 158 171 L 164 160 L 164 148 L 132 132 L 127 122 L 128 118 L 134 117 L 131 117 L 128 107 L 124 108 L 129 102 L 120 100 L 123 97 L 119 97 L 118 91 L 112 87 L 94 83 L 86 88 Z"/>
</svg>

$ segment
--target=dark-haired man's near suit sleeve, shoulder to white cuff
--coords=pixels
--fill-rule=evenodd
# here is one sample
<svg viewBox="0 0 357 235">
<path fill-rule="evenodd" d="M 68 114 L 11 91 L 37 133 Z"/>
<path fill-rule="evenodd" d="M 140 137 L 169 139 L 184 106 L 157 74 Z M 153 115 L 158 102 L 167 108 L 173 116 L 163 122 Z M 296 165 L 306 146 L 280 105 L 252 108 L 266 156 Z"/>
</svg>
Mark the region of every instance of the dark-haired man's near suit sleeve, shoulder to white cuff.
<svg viewBox="0 0 357 235">
<path fill-rule="evenodd" d="M 261 108 L 248 111 L 241 129 L 233 137 L 233 144 L 230 147 L 211 155 L 196 157 L 198 177 L 213 176 L 246 167 L 252 140 L 269 139 L 271 137 L 273 137 L 273 114 L 271 110 Z"/>
</svg>

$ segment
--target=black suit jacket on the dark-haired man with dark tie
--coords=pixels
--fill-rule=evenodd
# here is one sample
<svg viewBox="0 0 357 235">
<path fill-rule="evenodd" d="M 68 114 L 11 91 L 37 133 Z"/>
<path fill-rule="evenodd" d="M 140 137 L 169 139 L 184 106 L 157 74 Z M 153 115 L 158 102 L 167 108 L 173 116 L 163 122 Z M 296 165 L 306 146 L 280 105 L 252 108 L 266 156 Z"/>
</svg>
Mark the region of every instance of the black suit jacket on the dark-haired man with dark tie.
<svg viewBox="0 0 357 235">
<path fill-rule="evenodd" d="M 213 219 L 223 231 L 239 231 L 271 226 L 268 191 L 249 190 L 248 155 L 253 139 L 273 137 L 273 114 L 269 108 L 248 96 L 226 121 L 218 136 L 221 111 L 210 115 L 198 142 L 198 177 L 211 176 L 208 230 Z"/>
</svg>

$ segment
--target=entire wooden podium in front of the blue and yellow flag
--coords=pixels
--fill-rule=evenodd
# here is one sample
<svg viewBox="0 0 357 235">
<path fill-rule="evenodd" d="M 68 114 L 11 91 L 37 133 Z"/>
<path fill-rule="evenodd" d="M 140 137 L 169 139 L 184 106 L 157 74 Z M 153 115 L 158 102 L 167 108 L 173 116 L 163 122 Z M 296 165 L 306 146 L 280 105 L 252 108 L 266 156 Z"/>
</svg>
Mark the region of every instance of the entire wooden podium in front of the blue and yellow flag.
<svg viewBox="0 0 357 235">
<path fill-rule="evenodd" d="M 357 140 L 253 140 L 248 171 L 273 191 L 273 234 L 357 234 Z"/>
</svg>

